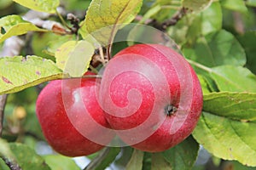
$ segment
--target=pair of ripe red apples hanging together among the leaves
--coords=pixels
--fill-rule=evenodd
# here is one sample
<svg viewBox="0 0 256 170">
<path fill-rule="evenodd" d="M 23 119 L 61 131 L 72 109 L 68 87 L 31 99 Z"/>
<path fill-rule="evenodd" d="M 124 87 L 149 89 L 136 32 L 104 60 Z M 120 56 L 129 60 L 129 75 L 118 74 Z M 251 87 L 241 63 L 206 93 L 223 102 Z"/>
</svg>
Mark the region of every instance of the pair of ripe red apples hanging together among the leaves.
<svg viewBox="0 0 256 170">
<path fill-rule="evenodd" d="M 201 84 L 181 54 L 160 44 L 136 44 L 110 59 L 101 79 L 49 82 L 36 112 L 57 152 L 87 156 L 116 136 L 137 150 L 168 150 L 192 133 L 202 103 Z"/>
</svg>

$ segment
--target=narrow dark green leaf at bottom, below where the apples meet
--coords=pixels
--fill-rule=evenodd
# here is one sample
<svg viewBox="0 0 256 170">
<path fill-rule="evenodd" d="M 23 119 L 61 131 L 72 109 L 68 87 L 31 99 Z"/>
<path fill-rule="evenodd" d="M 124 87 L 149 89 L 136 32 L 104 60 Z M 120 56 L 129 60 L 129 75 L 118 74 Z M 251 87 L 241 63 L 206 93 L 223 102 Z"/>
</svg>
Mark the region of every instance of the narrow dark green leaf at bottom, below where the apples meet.
<svg viewBox="0 0 256 170">
<path fill-rule="evenodd" d="M 115 160 L 116 156 L 119 155 L 119 152 L 119 147 L 111 147 L 108 151 L 108 155 L 106 156 L 106 158 L 102 160 L 101 163 L 95 169 L 102 170 L 108 167 L 109 164 L 111 164 Z"/>
</svg>

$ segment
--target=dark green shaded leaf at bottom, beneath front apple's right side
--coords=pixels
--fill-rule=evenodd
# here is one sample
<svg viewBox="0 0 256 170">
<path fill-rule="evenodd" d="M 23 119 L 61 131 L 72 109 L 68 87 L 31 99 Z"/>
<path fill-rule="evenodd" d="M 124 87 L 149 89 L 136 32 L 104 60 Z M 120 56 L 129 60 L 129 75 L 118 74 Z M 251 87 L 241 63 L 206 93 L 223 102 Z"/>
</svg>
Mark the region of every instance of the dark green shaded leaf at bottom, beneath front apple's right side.
<svg viewBox="0 0 256 170">
<path fill-rule="evenodd" d="M 187 170 L 193 167 L 199 150 L 199 144 L 189 136 L 182 143 L 177 144 L 173 148 L 161 152 L 166 158 L 172 169 Z"/>
</svg>

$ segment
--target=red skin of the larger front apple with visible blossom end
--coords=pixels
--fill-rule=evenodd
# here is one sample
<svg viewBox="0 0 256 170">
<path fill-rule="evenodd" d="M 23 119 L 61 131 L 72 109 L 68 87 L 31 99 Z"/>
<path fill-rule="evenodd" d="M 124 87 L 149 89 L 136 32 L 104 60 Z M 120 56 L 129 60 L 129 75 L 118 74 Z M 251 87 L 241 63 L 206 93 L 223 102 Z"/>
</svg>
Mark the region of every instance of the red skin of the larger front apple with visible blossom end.
<svg viewBox="0 0 256 170">
<path fill-rule="evenodd" d="M 174 58 L 180 62 L 175 63 Z M 163 83 L 148 80 L 147 75 L 161 77 L 148 60 L 166 77 L 167 90 Z M 183 71 L 183 67 L 187 70 Z M 183 74 L 190 78 L 181 78 Z M 156 99 L 157 95 L 160 98 Z M 188 103 L 181 103 L 182 99 Z M 201 84 L 183 56 L 163 45 L 137 44 L 121 50 L 108 62 L 102 76 L 100 103 L 110 126 L 126 144 L 138 150 L 160 152 L 179 144 L 192 133 L 201 116 L 203 100 Z M 137 103 L 140 105 L 135 111 L 133 106 Z M 156 114 L 144 125 L 153 108 Z M 173 110 L 169 112 L 168 108 Z M 183 108 L 187 109 L 182 111 Z M 182 123 L 177 125 L 179 121 Z M 170 133 L 175 126 L 177 129 Z M 148 137 L 139 139 L 144 133 L 148 133 Z"/>
</svg>

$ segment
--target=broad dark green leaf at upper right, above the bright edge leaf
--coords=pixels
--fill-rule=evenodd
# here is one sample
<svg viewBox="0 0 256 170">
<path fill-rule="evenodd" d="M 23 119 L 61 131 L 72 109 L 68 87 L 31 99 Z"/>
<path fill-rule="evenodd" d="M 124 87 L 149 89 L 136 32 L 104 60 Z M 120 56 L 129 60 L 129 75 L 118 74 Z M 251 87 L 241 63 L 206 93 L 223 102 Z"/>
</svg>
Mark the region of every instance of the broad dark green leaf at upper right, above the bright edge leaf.
<svg viewBox="0 0 256 170">
<path fill-rule="evenodd" d="M 194 47 L 183 48 L 183 54 L 208 67 L 246 63 L 246 54 L 241 44 L 230 32 L 224 30 L 200 37 Z"/>
</svg>

